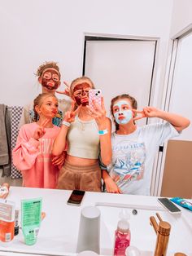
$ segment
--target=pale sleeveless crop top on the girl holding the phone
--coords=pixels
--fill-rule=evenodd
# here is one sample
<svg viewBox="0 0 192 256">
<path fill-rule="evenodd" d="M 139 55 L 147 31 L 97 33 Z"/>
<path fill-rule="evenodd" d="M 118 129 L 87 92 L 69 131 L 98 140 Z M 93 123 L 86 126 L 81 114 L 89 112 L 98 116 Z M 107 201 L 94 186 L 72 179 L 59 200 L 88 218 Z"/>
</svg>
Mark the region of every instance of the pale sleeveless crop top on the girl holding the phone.
<svg viewBox="0 0 192 256">
<path fill-rule="evenodd" d="M 76 117 L 68 130 L 68 155 L 98 159 L 99 135 L 96 121 L 81 121 Z"/>
</svg>

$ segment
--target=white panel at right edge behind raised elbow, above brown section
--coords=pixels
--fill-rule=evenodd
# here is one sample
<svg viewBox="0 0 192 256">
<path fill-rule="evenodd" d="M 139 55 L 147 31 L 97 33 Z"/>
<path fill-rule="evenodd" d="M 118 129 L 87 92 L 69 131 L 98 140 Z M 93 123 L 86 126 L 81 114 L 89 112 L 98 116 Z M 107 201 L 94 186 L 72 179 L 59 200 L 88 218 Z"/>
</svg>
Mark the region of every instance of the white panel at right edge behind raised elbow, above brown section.
<svg viewBox="0 0 192 256">
<path fill-rule="evenodd" d="M 188 37 L 181 38 L 177 47 L 177 60 L 175 63 L 174 77 L 172 81 L 172 95 L 170 97 L 169 111 L 181 114 L 192 121 L 192 33 Z M 177 138 L 192 141 L 192 125 Z"/>
</svg>

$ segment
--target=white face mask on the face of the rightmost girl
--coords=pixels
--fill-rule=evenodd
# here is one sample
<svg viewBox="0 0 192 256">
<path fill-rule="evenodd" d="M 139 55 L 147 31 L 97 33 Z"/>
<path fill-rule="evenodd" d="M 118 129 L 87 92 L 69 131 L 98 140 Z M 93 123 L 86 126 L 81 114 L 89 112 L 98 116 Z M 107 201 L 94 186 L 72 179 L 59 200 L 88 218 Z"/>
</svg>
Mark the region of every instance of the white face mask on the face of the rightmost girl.
<svg viewBox="0 0 192 256">
<path fill-rule="evenodd" d="M 119 125 L 128 124 L 133 117 L 131 106 L 126 100 L 120 100 L 113 106 L 114 117 Z"/>
</svg>

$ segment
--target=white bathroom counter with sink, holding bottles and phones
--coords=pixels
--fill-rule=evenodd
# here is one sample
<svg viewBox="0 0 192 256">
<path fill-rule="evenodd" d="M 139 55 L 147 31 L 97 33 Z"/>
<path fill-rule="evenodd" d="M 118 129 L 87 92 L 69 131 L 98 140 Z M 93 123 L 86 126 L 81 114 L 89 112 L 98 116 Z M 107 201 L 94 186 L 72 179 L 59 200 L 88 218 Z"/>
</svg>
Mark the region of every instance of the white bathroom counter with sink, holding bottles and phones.
<svg viewBox="0 0 192 256">
<path fill-rule="evenodd" d="M 0 255 L 76 255 L 81 209 L 87 205 L 98 205 L 101 211 L 101 255 L 112 255 L 119 213 L 121 208 L 126 206 L 131 215 L 131 245 L 140 249 L 142 255 L 153 255 L 156 235 L 150 225 L 150 216 L 155 216 L 158 212 L 164 221 L 172 225 L 168 255 L 182 252 L 192 256 L 192 212 L 190 210 L 180 207 L 181 214 L 169 214 L 159 205 L 155 196 L 129 196 L 98 192 L 85 192 L 81 206 L 72 206 L 67 205 L 71 192 L 11 187 L 7 200 L 15 201 L 16 208 L 19 209 L 21 199 L 42 197 L 42 211 L 46 212 L 46 218 L 41 223 L 35 245 L 25 245 L 24 236 L 20 230 L 20 234 L 15 236 L 13 241 L 8 243 L 0 241 Z M 132 214 L 133 209 L 137 210 L 136 215 Z"/>
</svg>

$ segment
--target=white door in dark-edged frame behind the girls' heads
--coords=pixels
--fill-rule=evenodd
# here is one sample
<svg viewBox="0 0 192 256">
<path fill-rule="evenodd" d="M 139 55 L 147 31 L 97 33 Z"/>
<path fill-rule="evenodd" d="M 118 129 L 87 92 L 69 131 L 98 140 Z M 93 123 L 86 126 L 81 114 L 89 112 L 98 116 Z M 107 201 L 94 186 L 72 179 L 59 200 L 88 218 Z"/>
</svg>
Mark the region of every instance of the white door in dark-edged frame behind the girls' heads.
<svg viewBox="0 0 192 256">
<path fill-rule="evenodd" d="M 155 49 L 155 40 L 85 37 L 83 74 L 103 91 L 108 116 L 111 99 L 116 95 L 132 95 L 138 108 L 150 104 Z M 145 123 L 138 121 L 139 125 Z"/>
</svg>

